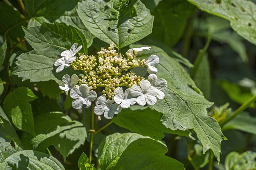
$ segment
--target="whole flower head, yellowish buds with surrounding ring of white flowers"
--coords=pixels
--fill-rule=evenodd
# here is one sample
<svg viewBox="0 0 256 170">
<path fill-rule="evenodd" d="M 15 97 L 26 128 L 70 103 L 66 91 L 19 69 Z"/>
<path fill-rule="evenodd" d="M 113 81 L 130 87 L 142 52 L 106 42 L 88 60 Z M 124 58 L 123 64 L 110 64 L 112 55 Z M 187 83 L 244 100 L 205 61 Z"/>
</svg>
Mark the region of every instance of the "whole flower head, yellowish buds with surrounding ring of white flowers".
<svg viewBox="0 0 256 170">
<path fill-rule="evenodd" d="M 117 53 L 111 43 L 108 49 L 101 48 L 96 56 L 79 54 L 76 57 L 82 48 L 82 45 L 78 48 L 77 45 L 75 43 L 70 50 L 63 51 L 62 58 L 54 64 L 58 66 L 57 73 L 69 66 L 84 72 L 80 78 L 76 74 L 62 77 L 60 88 L 74 99 L 73 108 L 88 108 L 96 100 L 94 113 L 112 119 L 122 108 L 135 104 L 154 105 L 157 99 L 164 98 L 167 82 L 155 75 L 159 58 L 156 55 L 142 60 L 137 58 L 139 51 L 150 50 L 151 47 L 131 48 L 124 56 Z M 131 71 L 137 67 L 146 67 L 148 75 L 142 77 Z"/>
</svg>

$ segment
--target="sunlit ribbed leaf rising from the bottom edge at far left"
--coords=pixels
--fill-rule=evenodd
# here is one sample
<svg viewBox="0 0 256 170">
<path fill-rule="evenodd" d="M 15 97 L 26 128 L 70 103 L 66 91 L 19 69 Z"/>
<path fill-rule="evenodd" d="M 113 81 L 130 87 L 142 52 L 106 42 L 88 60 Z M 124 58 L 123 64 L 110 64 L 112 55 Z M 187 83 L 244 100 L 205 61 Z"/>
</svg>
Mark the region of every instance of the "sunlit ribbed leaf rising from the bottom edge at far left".
<svg viewBox="0 0 256 170">
<path fill-rule="evenodd" d="M 35 150 L 22 150 L 6 159 L 12 170 L 65 170 L 53 156 Z"/>
</svg>

